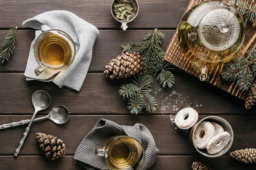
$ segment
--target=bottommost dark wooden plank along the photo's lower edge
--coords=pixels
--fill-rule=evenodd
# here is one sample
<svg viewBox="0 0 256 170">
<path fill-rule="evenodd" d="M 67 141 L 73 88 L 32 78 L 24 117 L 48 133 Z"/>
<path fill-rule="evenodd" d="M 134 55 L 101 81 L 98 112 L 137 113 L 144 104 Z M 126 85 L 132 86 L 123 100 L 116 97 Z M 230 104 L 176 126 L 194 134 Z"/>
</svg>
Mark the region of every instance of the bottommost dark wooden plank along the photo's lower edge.
<svg viewBox="0 0 256 170">
<path fill-rule="evenodd" d="M 0 169 L 10 170 L 85 170 L 74 163 L 73 156 L 65 156 L 56 161 L 48 160 L 43 156 L 0 156 Z M 254 170 L 254 164 L 240 163 L 229 156 L 207 158 L 202 156 L 159 156 L 157 161 L 148 170 L 191 170 L 193 161 L 202 161 L 215 170 Z"/>
</svg>

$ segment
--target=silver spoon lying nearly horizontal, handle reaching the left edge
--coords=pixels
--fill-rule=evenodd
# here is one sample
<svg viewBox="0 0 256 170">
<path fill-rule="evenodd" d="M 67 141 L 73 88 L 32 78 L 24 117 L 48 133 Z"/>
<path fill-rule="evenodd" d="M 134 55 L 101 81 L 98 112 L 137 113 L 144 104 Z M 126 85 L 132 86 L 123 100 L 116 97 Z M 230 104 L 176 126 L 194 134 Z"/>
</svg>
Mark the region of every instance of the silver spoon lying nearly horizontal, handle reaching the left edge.
<svg viewBox="0 0 256 170">
<path fill-rule="evenodd" d="M 34 121 L 50 119 L 51 121 L 53 121 L 56 124 L 65 124 L 69 117 L 70 117 L 70 113 L 65 106 L 56 105 L 52 108 L 52 110 L 50 111 L 50 113 L 47 116 L 38 117 L 38 118 L 34 119 Z M 0 129 L 6 129 L 6 128 L 14 127 L 14 126 L 28 124 L 29 121 L 30 121 L 30 119 L 16 121 L 16 122 L 12 122 L 9 124 L 2 124 L 2 125 L 0 125 Z"/>
</svg>

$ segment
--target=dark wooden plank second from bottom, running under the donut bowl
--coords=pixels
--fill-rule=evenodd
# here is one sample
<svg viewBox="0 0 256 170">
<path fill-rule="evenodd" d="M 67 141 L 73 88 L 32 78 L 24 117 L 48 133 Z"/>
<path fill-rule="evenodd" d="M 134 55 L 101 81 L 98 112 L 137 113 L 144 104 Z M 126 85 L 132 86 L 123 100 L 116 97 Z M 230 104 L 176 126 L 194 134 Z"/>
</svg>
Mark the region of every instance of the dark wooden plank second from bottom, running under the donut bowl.
<svg viewBox="0 0 256 170">
<path fill-rule="evenodd" d="M 0 124 L 29 119 L 29 117 L 25 115 L 0 116 Z M 207 115 L 200 115 L 199 119 L 204 117 L 207 117 Z M 256 146 L 256 135 L 254 135 L 256 124 L 253 123 L 256 115 L 221 115 L 221 117 L 226 119 L 233 127 L 235 139 L 230 150 L 225 155 L 228 155 L 232 150 Z M 35 139 L 37 132 L 44 132 L 59 137 L 66 145 L 66 154 L 74 155 L 76 148 L 83 138 L 101 118 L 128 126 L 136 123 L 144 124 L 155 139 L 156 146 L 159 149 L 159 155 L 199 155 L 195 148 L 187 141 L 186 130 L 175 129 L 176 126 L 171 122 L 170 115 L 140 115 L 133 117 L 128 115 L 72 115 L 69 121 L 63 125 L 56 125 L 50 120 L 38 121 L 32 125 L 20 155 L 42 155 Z M 8 143 L 6 140 L 0 140 L 0 155 L 13 154 L 17 141 L 22 136 L 24 129 L 25 126 L 16 126 L 0 130 L 0 139 L 8 140 Z"/>
</svg>

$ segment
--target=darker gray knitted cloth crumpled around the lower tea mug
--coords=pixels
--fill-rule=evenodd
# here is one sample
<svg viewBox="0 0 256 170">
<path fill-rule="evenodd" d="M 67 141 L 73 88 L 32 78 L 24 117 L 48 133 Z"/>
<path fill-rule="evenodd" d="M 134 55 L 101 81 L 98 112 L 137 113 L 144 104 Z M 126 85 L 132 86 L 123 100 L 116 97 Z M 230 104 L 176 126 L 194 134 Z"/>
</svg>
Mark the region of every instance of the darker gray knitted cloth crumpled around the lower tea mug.
<svg viewBox="0 0 256 170">
<path fill-rule="evenodd" d="M 104 157 L 94 155 L 95 146 L 103 146 L 113 136 L 126 135 L 137 139 L 145 150 L 145 162 L 141 170 L 150 168 L 157 159 L 158 149 L 150 131 L 143 124 L 121 126 L 113 121 L 100 119 L 83 139 L 74 155 L 75 163 L 87 170 L 108 170 Z M 142 161 L 142 160 L 141 160 Z M 139 163 L 140 164 L 140 163 Z"/>
</svg>

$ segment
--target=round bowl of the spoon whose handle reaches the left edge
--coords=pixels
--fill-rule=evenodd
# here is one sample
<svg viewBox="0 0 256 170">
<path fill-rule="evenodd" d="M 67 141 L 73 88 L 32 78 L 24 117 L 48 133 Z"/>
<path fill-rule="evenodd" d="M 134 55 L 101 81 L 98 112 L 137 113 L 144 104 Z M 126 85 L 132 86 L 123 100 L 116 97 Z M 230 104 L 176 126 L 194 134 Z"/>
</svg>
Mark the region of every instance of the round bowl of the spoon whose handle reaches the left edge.
<svg viewBox="0 0 256 170">
<path fill-rule="evenodd" d="M 56 124 L 65 124 L 70 117 L 70 113 L 63 105 L 56 105 L 52 108 L 47 118 Z"/>
</svg>

